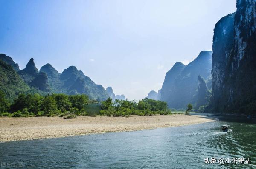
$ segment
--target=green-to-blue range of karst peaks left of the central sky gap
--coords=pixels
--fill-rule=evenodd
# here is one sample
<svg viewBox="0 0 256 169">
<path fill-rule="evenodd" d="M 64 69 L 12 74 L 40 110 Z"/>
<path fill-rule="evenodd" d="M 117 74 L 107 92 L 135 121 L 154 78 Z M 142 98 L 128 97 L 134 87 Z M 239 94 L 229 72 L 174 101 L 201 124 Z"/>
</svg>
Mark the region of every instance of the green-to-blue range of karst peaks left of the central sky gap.
<svg viewBox="0 0 256 169">
<path fill-rule="evenodd" d="M 19 69 L 11 57 L 0 54 L 0 89 L 9 99 L 19 93 L 65 93 L 86 94 L 90 99 L 105 100 L 108 93 L 102 85 L 96 85 L 75 66 L 70 66 L 62 73 L 58 73 L 49 63 L 42 66 L 40 71 L 35 67 L 31 58 L 23 70 Z M 8 86 L 5 86 L 8 84 Z M 11 87 L 13 86 L 13 87 Z"/>
</svg>

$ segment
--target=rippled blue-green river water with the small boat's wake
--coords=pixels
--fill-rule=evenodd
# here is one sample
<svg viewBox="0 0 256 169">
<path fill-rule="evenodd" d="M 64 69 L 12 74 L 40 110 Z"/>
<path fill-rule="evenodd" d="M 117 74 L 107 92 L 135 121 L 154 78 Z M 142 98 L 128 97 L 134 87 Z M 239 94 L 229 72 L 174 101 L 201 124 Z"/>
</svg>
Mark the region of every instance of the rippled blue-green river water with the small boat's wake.
<svg viewBox="0 0 256 169">
<path fill-rule="evenodd" d="M 229 124 L 232 132 L 221 132 Z M 252 164 L 204 164 L 204 158 L 251 158 Z M 256 168 L 256 124 L 217 121 L 135 132 L 0 144 L 0 162 L 23 168 Z"/>
</svg>

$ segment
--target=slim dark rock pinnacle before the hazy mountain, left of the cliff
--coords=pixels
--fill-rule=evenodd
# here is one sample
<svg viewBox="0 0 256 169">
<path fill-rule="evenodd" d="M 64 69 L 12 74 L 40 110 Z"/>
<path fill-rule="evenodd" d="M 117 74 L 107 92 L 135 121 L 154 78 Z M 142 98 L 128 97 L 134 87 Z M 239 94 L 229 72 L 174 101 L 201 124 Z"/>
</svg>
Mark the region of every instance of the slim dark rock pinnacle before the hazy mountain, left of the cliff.
<svg viewBox="0 0 256 169">
<path fill-rule="evenodd" d="M 198 76 L 198 98 L 195 106 L 195 110 L 197 110 L 200 106 L 207 105 L 209 103 L 209 99 L 211 97 L 211 93 L 204 81 L 202 76 Z"/>
</svg>

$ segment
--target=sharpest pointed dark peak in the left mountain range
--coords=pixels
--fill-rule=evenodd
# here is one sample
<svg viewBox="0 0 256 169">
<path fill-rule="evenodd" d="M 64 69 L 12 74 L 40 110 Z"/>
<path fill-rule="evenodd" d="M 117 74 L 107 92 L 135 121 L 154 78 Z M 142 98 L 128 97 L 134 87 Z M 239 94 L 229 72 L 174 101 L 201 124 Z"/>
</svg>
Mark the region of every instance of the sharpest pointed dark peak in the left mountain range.
<svg viewBox="0 0 256 169">
<path fill-rule="evenodd" d="M 31 58 L 27 63 L 26 68 L 18 71 L 18 74 L 27 84 L 31 83 L 38 74 L 38 69 L 35 67 L 34 59 Z"/>
</svg>

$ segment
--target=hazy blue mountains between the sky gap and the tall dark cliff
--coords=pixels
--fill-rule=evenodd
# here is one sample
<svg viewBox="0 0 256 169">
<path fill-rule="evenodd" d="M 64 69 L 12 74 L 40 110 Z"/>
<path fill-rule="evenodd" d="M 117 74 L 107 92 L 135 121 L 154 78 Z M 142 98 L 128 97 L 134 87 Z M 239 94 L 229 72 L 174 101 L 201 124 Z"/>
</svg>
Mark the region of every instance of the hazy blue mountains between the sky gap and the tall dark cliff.
<svg viewBox="0 0 256 169">
<path fill-rule="evenodd" d="M 184 109 L 188 103 L 192 103 L 198 108 L 207 101 L 202 101 L 205 97 L 198 94 L 201 85 L 207 85 L 207 91 L 212 87 L 212 51 L 202 51 L 197 58 L 188 65 L 177 62 L 166 73 L 162 89 L 157 92 L 151 91 L 147 98 L 166 101 L 169 108 Z M 206 81 L 206 82 L 205 82 Z M 208 89 L 209 88 L 209 89 Z M 209 100 L 209 93 L 207 92 Z M 198 101 L 199 100 L 199 101 Z M 208 101 L 209 102 L 209 101 Z"/>
</svg>

